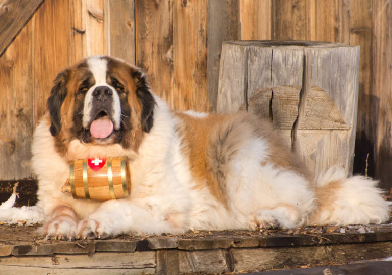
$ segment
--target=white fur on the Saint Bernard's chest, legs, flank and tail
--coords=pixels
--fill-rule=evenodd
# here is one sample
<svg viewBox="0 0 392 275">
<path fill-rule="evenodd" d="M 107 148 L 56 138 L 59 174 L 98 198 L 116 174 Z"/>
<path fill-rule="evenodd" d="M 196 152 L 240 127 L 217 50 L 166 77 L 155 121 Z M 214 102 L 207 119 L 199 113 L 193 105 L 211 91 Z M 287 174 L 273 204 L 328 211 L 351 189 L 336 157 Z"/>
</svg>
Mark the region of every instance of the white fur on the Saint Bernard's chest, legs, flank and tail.
<svg viewBox="0 0 392 275">
<path fill-rule="evenodd" d="M 94 77 L 103 81 L 100 73 L 106 65 L 100 62 L 91 59 L 89 64 L 95 68 Z M 55 150 L 47 117 L 41 120 L 34 134 L 32 167 L 39 180 L 38 205 L 47 216 L 48 236 L 86 238 L 93 234 L 104 238 L 130 232 L 254 229 L 276 223 L 294 228 L 309 223 L 309 216 L 318 211 L 312 184 L 301 174 L 268 163 L 268 142 L 253 136 L 238 144 L 228 163 L 225 207 L 207 187 L 200 188 L 203 185 L 192 176 L 182 137 L 175 131 L 178 118 L 160 98 L 155 96 L 155 100 L 154 125 L 148 134 L 144 133 L 138 152 L 126 151 L 119 144 L 86 145 L 74 140 L 66 157 L 61 157 Z M 200 119 L 207 116 L 191 114 Z M 69 176 L 68 161 L 96 155 L 130 159 L 129 197 L 101 203 L 72 199 L 61 192 Z M 388 219 L 388 206 L 375 181 L 359 176 L 346 179 L 339 172 L 329 171 L 317 184 L 328 185 L 337 179 L 342 185 L 335 201 L 312 222 L 379 223 Z M 334 192 L 331 190 L 331 194 Z M 70 210 L 63 211 L 66 217 L 51 217 L 59 204 L 70 206 Z M 67 212 L 72 209 L 78 219 Z"/>
</svg>

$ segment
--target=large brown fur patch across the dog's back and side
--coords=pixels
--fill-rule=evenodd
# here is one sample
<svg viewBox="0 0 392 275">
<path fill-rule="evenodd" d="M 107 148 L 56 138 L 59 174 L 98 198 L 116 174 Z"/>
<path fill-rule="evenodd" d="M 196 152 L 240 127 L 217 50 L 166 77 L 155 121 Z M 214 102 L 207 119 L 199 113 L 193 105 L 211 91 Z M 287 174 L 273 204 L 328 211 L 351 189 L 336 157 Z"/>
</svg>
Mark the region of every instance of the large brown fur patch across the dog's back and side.
<svg viewBox="0 0 392 275">
<path fill-rule="evenodd" d="M 207 186 L 225 206 L 227 164 L 252 137 L 268 143 L 267 160 L 260 165 L 273 163 L 305 176 L 309 182 L 313 180 L 302 163 L 283 145 L 269 121 L 249 113 L 210 114 L 199 118 L 178 112 L 176 117 L 181 121 L 178 131 L 183 138 L 184 153 L 189 158 L 193 176 L 200 182 L 199 187 Z"/>
</svg>

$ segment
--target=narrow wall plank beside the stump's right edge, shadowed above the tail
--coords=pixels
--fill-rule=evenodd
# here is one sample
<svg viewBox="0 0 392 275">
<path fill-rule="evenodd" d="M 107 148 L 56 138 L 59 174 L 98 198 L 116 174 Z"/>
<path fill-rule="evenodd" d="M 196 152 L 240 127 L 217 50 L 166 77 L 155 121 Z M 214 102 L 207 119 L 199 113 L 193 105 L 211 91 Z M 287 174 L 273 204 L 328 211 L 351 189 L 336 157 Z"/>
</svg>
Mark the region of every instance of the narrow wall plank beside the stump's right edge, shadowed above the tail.
<svg viewBox="0 0 392 275">
<path fill-rule="evenodd" d="M 360 45 L 357 133 L 355 137 L 354 174 L 375 176 L 375 141 L 377 99 L 373 89 L 373 67 L 376 65 L 373 36 L 373 2 L 349 2 L 350 43 Z"/>
</svg>

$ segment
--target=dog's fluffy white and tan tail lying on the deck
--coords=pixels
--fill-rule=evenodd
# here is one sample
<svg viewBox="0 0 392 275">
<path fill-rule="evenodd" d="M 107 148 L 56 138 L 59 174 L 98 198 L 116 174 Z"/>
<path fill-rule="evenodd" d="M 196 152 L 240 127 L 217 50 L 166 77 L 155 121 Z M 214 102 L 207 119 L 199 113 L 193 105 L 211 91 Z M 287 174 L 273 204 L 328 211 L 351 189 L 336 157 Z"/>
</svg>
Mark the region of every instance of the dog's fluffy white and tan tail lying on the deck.
<svg viewBox="0 0 392 275">
<path fill-rule="evenodd" d="M 337 168 L 329 169 L 317 179 L 318 208 L 308 224 L 382 223 L 389 219 L 389 205 L 382 198 L 378 181 L 364 176 L 347 178 Z"/>
</svg>

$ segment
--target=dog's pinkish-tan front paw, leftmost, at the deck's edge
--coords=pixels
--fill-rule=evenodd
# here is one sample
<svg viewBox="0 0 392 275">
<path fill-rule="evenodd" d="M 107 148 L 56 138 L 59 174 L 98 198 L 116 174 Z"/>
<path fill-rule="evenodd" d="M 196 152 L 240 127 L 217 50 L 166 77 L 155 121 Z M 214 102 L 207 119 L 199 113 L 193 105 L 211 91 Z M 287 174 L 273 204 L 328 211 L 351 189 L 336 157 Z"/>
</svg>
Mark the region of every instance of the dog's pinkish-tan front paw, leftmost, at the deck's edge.
<svg viewBox="0 0 392 275">
<path fill-rule="evenodd" d="M 72 240 L 76 236 L 77 221 L 69 216 L 56 216 L 46 222 L 44 227 L 45 239 Z"/>
</svg>

